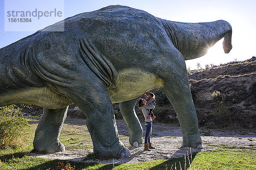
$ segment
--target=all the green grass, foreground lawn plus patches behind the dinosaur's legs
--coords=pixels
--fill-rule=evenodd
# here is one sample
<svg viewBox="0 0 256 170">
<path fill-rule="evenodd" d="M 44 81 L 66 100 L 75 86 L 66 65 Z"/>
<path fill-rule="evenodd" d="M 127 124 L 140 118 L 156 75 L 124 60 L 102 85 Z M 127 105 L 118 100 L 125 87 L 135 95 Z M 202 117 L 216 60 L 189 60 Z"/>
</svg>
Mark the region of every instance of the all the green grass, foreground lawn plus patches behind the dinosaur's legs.
<svg viewBox="0 0 256 170">
<path fill-rule="evenodd" d="M 68 149 L 92 148 L 92 142 L 84 122 L 67 120 L 61 131 L 60 141 Z M 79 121 L 79 120 L 78 120 Z M 38 120 L 29 120 L 32 131 L 27 134 L 24 146 L 0 150 L 0 170 L 55 170 L 61 160 L 29 156 Z M 175 138 L 174 136 L 166 136 Z M 128 140 L 128 136 L 121 136 Z M 250 140 L 250 138 L 246 138 Z M 251 139 L 252 140 L 252 139 Z M 69 161 L 75 170 L 256 170 L 256 147 L 237 147 L 226 144 L 211 145 L 213 151 L 205 151 L 180 159 L 155 160 L 135 164 L 100 164 Z M 143 148 L 142 148 L 143 149 Z M 66 161 L 64 161 L 66 163 Z M 186 168 L 185 168 L 186 167 Z"/>
</svg>

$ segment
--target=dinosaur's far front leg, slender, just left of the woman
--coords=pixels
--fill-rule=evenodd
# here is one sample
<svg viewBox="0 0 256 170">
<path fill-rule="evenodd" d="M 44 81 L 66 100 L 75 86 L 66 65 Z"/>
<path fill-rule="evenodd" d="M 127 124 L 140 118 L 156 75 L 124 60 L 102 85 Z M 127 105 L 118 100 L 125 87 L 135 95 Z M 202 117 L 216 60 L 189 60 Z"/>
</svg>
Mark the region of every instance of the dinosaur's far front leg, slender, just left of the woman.
<svg viewBox="0 0 256 170">
<path fill-rule="evenodd" d="M 135 147 L 142 146 L 143 142 L 143 128 L 141 127 L 140 121 L 134 111 L 134 105 L 136 104 L 137 99 L 119 103 L 122 117 L 130 131 L 129 142 Z"/>
</svg>

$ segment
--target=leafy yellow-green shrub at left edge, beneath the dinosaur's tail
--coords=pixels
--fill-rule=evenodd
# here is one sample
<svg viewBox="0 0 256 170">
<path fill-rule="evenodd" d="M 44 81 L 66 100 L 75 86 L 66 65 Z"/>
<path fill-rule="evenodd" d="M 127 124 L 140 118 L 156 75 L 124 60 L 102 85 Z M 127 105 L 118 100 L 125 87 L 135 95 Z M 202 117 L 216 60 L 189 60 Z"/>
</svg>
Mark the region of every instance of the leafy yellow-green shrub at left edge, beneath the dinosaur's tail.
<svg viewBox="0 0 256 170">
<path fill-rule="evenodd" d="M 0 148 L 22 145 L 30 125 L 22 116 L 20 108 L 9 105 L 0 108 Z"/>
</svg>

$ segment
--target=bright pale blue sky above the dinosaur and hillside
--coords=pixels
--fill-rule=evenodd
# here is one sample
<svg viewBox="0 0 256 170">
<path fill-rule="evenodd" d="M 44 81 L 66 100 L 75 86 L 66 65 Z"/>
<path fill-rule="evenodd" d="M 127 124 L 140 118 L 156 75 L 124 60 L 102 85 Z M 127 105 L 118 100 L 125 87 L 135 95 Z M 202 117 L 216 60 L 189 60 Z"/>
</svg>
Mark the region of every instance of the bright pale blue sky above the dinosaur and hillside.
<svg viewBox="0 0 256 170">
<path fill-rule="evenodd" d="M 24 4 L 29 6 L 28 3 Z M 249 59 L 256 55 L 256 0 L 64 0 L 64 18 L 115 4 L 142 9 L 156 17 L 172 21 L 228 21 L 233 28 L 233 49 L 230 53 L 224 54 L 223 40 L 220 40 L 204 57 L 186 61 L 187 68 L 195 69 L 197 63 L 204 68 L 206 64 L 219 65 L 235 59 Z M 34 33 L 4 31 L 4 14 L 4 0 L 0 0 L 0 48 Z"/>
</svg>

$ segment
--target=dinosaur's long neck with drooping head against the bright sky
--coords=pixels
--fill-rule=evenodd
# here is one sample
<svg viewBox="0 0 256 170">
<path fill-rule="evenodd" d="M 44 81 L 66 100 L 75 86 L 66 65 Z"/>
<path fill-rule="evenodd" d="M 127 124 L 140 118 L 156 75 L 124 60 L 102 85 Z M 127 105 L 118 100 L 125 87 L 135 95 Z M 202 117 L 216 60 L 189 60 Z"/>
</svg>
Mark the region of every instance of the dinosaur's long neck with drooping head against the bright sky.
<svg viewBox="0 0 256 170">
<path fill-rule="evenodd" d="M 209 23 L 179 23 L 162 20 L 167 35 L 185 60 L 204 56 L 208 49 L 224 37 L 223 48 L 229 53 L 232 48 L 232 28 L 227 21 Z"/>
</svg>

